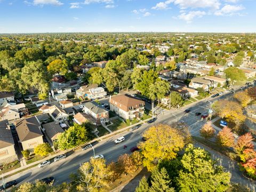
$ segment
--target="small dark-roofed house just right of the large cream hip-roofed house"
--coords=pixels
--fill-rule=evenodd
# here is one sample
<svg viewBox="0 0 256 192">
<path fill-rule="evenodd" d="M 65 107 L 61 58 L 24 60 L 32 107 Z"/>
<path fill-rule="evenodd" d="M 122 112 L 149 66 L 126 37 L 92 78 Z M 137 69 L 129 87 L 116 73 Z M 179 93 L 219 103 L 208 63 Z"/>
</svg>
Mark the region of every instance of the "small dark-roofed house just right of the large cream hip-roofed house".
<svg viewBox="0 0 256 192">
<path fill-rule="evenodd" d="M 46 136 L 48 139 L 53 141 L 58 139 L 58 136 L 64 132 L 64 130 L 61 128 L 58 122 L 51 122 L 42 125 L 43 126 L 43 131 L 45 132 Z"/>
</svg>

